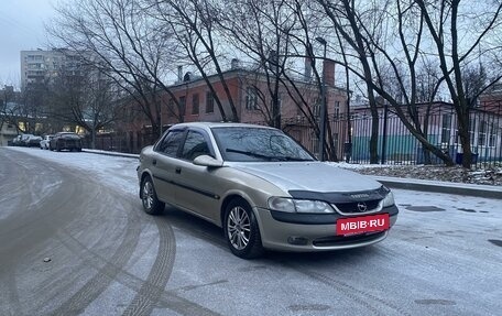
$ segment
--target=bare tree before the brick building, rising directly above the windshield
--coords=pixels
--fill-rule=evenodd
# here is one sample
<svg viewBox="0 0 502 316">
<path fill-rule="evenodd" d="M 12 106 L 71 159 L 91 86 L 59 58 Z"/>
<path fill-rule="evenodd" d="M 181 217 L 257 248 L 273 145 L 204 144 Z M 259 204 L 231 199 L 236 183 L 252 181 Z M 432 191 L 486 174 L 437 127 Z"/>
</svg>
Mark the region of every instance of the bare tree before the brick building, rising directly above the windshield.
<svg viewBox="0 0 502 316">
<path fill-rule="evenodd" d="M 265 121 L 281 128 L 282 80 L 287 58 L 296 54 L 292 46 L 292 32 L 297 26 L 294 11 L 287 1 L 237 1 L 220 13 L 218 22 L 228 42 L 254 64 L 255 85 L 249 85 L 259 91 Z"/>
</svg>

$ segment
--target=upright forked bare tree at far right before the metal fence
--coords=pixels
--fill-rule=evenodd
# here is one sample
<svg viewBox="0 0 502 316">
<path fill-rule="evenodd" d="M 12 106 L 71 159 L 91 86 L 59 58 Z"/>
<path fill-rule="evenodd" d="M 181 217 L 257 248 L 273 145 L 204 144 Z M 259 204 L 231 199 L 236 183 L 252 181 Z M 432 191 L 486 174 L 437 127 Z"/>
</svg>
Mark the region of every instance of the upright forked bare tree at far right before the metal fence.
<svg viewBox="0 0 502 316">
<path fill-rule="evenodd" d="M 472 163 L 471 143 L 469 137 L 469 118 L 474 99 L 499 81 L 502 75 L 495 76 L 490 83 L 484 83 L 477 89 L 467 90 L 466 78 L 462 68 L 479 52 L 482 55 L 481 44 L 487 44 L 491 34 L 500 32 L 502 3 L 484 3 L 472 10 L 471 6 L 460 6 L 459 0 L 443 1 L 438 6 L 422 0 L 416 0 L 424 17 L 427 30 L 436 47 L 443 75 L 454 109 L 457 113 L 458 133 L 462 145 L 462 166 L 470 167 Z M 469 28 L 471 33 L 470 43 L 463 43 L 459 36 L 463 28 Z M 495 48 L 495 50 L 501 50 Z M 477 91 L 476 91 L 477 90 Z M 472 92 L 472 95 L 469 95 Z"/>
</svg>

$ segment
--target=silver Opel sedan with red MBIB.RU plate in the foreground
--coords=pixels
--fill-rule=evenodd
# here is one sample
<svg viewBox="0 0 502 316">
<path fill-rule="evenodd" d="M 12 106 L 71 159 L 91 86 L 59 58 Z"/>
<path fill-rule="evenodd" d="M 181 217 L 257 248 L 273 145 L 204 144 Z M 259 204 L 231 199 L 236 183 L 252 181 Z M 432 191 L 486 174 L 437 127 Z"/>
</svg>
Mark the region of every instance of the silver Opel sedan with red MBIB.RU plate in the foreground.
<svg viewBox="0 0 502 316">
<path fill-rule="evenodd" d="M 280 130 L 181 123 L 140 154 L 148 214 L 165 204 L 222 228 L 231 252 L 329 251 L 388 236 L 399 209 L 379 182 L 317 161 Z"/>
</svg>

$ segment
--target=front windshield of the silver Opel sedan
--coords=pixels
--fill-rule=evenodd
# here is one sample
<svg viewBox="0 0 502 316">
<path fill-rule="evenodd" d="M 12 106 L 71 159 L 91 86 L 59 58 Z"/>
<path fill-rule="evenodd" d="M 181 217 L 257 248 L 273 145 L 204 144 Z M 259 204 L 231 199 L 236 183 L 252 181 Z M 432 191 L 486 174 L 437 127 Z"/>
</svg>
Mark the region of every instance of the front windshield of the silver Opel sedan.
<svg viewBox="0 0 502 316">
<path fill-rule="evenodd" d="M 313 161 L 314 157 L 282 131 L 265 128 L 212 128 L 226 161 Z"/>
</svg>

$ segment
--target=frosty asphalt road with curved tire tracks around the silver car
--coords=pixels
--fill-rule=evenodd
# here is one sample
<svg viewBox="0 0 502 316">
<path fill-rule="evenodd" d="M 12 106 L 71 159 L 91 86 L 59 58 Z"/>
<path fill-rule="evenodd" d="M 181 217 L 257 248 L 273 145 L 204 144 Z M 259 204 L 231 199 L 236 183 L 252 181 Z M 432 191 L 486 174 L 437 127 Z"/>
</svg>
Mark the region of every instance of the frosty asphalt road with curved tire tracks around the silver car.
<svg viewBox="0 0 502 316">
<path fill-rule="evenodd" d="M 134 170 L 117 172 L 132 160 L 106 157 L 107 171 L 94 154 L 28 151 L 0 148 L 0 315 L 502 310 L 501 200 L 395 190 L 402 211 L 381 243 L 245 261 L 209 224 L 143 214 L 111 185 L 135 188 Z"/>
</svg>

